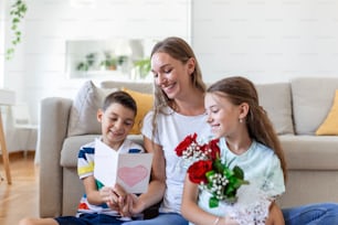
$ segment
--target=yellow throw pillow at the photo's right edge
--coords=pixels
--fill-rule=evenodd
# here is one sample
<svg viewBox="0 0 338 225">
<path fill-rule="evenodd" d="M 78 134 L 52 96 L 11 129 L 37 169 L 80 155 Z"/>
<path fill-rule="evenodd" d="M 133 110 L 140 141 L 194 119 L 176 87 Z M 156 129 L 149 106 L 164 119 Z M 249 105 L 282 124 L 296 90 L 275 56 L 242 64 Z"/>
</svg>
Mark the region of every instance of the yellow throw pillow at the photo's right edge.
<svg viewBox="0 0 338 225">
<path fill-rule="evenodd" d="M 324 122 L 316 130 L 317 136 L 338 136 L 338 90 L 336 90 L 332 107 Z"/>
</svg>

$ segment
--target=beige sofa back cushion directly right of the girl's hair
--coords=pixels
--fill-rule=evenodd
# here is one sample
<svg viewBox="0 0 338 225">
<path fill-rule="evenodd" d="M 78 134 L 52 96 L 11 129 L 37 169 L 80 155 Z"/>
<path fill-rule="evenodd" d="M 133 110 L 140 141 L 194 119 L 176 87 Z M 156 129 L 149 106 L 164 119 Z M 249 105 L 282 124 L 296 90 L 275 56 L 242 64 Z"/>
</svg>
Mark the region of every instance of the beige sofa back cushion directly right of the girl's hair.
<svg viewBox="0 0 338 225">
<path fill-rule="evenodd" d="M 289 84 L 256 84 L 255 86 L 260 104 L 266 110 L 277 135 L 294 133 Z"/>
</svg>

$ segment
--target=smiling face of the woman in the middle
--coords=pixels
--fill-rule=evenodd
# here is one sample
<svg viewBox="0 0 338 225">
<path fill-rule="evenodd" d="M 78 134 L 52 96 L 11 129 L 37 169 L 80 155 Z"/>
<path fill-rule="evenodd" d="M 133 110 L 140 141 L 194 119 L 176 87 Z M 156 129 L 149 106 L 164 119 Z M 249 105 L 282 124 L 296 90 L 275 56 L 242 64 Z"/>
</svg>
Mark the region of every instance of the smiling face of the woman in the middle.
<svg viewBox="0 0 338 225">
<path fill-rule="evenodd" d="M 179 97 L 191 85 L 190 75 L 194 71 L 194 61 L 190 58 L 186 64 L 171 57 L 167 53 L 158 52 L 151 57 L 151 72 L 155 84 L 169 98 Z"/>
</svg>

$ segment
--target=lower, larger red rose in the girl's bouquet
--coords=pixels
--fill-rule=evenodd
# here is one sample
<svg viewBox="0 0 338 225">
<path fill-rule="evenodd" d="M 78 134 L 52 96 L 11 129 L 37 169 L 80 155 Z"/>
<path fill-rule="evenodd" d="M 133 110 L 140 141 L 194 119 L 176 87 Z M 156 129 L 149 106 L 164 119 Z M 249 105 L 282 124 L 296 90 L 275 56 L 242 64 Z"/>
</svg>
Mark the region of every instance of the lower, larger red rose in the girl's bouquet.
<svg viewBox="0 0 338 225">
<path fill-rule="evenodd" d="M 200 160 L 191 164 L 188 169 L 189 179 L 192 183 L 200 184 L 201 182 L 207 183 L 205 173 L 212 170 L 211 160 Z"/>
</svg>

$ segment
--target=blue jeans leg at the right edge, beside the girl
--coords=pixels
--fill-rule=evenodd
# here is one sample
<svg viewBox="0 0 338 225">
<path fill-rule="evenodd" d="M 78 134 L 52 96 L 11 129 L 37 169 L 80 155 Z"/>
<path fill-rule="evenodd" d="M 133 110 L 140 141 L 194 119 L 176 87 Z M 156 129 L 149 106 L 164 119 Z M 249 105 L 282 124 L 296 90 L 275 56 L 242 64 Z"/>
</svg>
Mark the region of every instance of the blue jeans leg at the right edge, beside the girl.
<svg viewBox="0 0 338 225">
<path fill-rule="evenodd" d="M 318 203 L 282 208 L 285 225 L 338 224 L 338 204 Z"/>
</svg>

